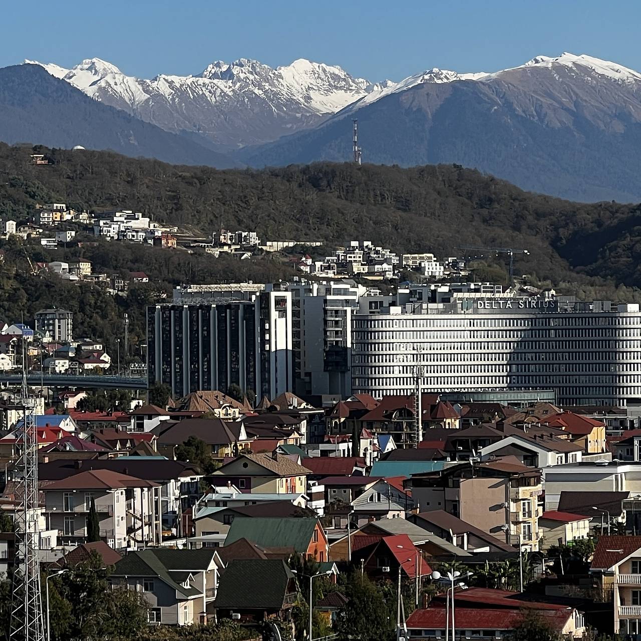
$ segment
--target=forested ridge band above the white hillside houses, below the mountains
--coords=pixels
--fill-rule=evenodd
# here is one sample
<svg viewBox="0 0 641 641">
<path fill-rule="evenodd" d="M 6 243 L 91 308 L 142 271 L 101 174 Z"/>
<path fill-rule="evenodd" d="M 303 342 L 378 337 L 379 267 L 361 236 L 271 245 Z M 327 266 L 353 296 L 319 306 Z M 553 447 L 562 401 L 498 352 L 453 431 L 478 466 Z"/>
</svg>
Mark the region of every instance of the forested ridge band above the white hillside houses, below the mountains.
<svg viewBox="0 0 641 641">
<path fill-rule="evenodd" d="M 139 210 L 206 234 L 225 227 L 270 240 L 364 238 L 440 256 L 465 245 L 522 247 L 530 255 L 516 260 L 517 272 L 540 280 L 597 283 L 585 274 L 641 285 L 639 206 L 531 194 L 458 165 L 217 171 L 106 152 L 44 152 L 53 165 L 31 165 L 31 148 L 0 144 L 2 217 L 22 219 L 54 201 Z"/>
</svg>

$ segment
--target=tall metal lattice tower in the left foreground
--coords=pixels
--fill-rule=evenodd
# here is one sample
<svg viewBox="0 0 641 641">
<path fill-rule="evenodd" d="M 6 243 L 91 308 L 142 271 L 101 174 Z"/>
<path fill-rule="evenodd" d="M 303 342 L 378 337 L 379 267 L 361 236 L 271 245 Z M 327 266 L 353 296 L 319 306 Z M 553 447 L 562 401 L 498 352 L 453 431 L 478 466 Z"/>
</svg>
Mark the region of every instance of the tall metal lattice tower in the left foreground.
<svg viewBox="0 0 641 641">
<path fill-rule="evenodd" d="M 10 641 L 44 641 L 38 560 L 38 438 L 35 402 L 27 388 L 26 338 L 22 338 L 22 406 L 17 434 L 22 446 L 15 477 L 16 549 L 13 567 Z"/>
</svg>

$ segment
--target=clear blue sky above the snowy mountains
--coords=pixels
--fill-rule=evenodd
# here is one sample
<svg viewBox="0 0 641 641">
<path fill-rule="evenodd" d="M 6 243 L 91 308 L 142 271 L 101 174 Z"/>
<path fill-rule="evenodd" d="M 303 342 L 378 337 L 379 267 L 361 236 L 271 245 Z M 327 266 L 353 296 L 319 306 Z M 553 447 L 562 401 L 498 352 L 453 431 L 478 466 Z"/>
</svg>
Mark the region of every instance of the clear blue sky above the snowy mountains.
<svg viewBox="0 0 641 641">
<path fill-rule="evenodd" d="M 497 71 L 539 54 L 587 53 L 641 70 L 641 3 L 613 0 L 35 0 L 3 3 L 0 66 L 71 67 L 98 57 L 125 73 L 186 75 L 214 60 L 296 58 L 400 80 L 424 69 Z"/>
</svg>

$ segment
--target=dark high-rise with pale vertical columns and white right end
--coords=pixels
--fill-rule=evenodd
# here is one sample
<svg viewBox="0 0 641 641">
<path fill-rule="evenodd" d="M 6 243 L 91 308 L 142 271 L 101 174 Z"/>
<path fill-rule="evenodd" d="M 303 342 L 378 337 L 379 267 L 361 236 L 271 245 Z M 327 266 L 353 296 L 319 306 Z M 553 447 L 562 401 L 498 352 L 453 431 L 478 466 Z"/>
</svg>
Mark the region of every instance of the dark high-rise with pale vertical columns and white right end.
<svg viewBox="0 0 641 641">
<path fill-rule="evenodd" d="M 149 383 L 167 383 L 176 398 L 238 385 L 272 399 L 293 384 L 291 295 L 149 306 L 147 350 Z"/>
</svg>

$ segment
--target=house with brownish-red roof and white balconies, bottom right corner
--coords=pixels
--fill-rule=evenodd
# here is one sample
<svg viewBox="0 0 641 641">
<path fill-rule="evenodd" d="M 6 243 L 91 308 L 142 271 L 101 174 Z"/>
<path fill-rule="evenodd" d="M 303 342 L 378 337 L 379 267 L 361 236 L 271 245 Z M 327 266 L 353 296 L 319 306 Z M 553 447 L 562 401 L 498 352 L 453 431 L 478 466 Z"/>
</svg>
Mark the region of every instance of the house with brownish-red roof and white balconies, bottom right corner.
<svg viewBox="0 0 641 641">
<path fill-rule="evenodd" d="M 641 634 L 641 537 L 599 537 L 590 575 L 604 599 L 612 594 L 615 634 Z"/>
</svg>

